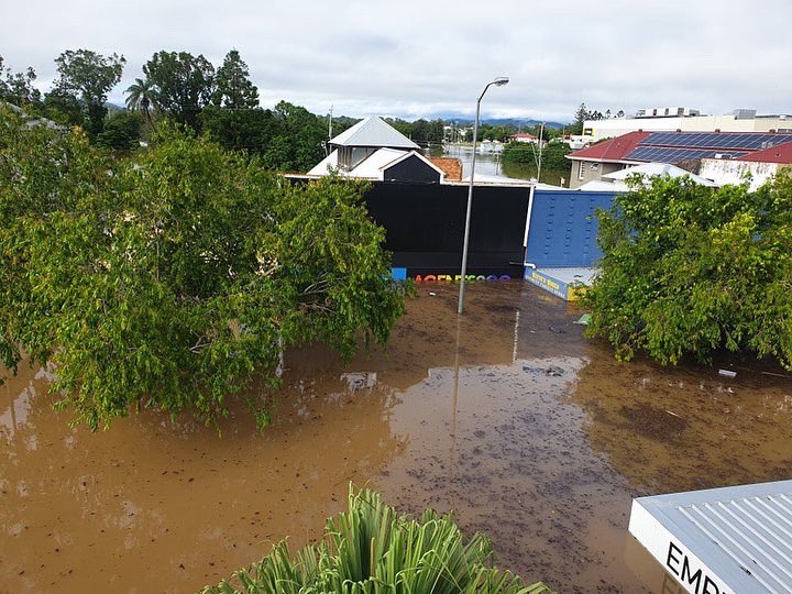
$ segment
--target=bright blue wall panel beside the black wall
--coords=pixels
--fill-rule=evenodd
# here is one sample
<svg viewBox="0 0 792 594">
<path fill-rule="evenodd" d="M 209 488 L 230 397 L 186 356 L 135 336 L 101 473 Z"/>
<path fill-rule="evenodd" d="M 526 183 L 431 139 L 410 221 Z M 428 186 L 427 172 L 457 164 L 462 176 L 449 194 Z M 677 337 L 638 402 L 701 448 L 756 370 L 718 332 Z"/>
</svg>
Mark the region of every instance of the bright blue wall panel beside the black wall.
<svg viewBox="0 0 792 594">
<path fill-rule="evenodd" d="M 609 209 L 614 193 L 536 190 L 526 264 L 538 268 L 595 266 L 598 208 Z"/>
</svg>

